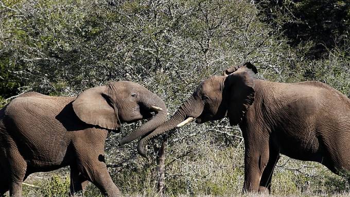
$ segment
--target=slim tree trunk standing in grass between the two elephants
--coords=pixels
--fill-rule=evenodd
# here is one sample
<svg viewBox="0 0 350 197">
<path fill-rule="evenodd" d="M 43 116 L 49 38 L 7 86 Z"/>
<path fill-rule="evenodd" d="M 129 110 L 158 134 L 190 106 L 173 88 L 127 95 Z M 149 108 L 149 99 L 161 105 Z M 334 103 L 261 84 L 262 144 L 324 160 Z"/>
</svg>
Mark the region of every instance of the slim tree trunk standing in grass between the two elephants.
<svg viewBox="0 0 350 197">
<path fill-rule="evenodd" d="M 165 148 L 166 148 L 167 138 L 163 139 L 162 146 L 158 150 L 157 154 L 157 171 L 158 171 L 158 196 L 164 196 L 164 188 L 165 188 Z"/>
</svg>

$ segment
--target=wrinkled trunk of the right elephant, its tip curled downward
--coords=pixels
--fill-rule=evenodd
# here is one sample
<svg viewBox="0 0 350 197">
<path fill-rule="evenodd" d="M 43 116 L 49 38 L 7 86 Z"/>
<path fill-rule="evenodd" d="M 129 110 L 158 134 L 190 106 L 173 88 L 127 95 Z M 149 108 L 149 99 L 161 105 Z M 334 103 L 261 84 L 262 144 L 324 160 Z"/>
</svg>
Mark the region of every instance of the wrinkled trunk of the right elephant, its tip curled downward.
<svg viewBox="0 0 350 197">
<path fill-rule="evenodd" d="M 203 111 L 203 106 L 201 103 L 195 101 L 193 96 L 187 99 L 179 108 L 179 110 L 167 121 L 165 121 L 160 127 L 156 128 L 152 133 L 148 134 L 141 140 L 139 140 L 137 145 L 137 151 L 144 157 L 147 157 L 146 145 L 149 140 L 159 136 L 173 128 L 176 128 L 179 123 L 183 122 L 188 117 L 198 117 Z"/>
</svg>

